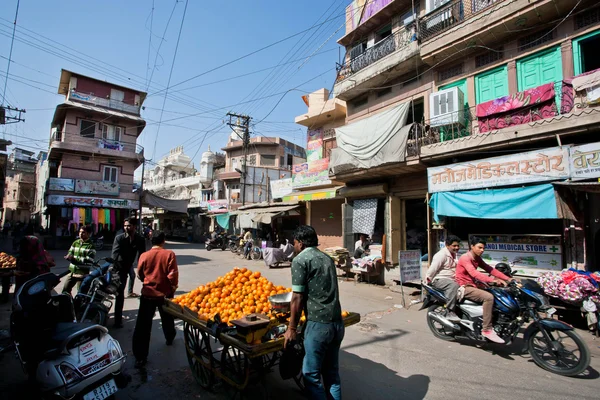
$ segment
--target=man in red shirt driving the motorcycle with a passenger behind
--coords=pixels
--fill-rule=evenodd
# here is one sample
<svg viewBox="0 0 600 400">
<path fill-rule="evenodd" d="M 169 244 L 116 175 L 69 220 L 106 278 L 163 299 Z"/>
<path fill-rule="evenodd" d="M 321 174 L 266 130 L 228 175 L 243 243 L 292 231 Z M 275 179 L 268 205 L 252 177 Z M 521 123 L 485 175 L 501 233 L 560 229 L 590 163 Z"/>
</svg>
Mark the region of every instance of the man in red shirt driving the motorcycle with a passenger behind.
<svg viewBox="0 0 600 400">
<path fill-rule="evenodd" d="M 475 281 L 495 283 L 506 286 L 512 278 L 486 264 L 481 258 L 485 251 L 486 242 L 478 237 L 472 237 L 470 241 L 471 250 L 458 259 L 455 280 L 464 288 L 464 298 L 478 303 L 483 303 L 483 327 L 481 334 L 495 343 L 504 343 L 504 340 L 496 334 L 492 326 L 492 310 L 494 308 L 494 296 L 485 290 L 478 289 Z M 492 276 L 477 271 L 477 267 L 484 269 Z"/>
</svg>

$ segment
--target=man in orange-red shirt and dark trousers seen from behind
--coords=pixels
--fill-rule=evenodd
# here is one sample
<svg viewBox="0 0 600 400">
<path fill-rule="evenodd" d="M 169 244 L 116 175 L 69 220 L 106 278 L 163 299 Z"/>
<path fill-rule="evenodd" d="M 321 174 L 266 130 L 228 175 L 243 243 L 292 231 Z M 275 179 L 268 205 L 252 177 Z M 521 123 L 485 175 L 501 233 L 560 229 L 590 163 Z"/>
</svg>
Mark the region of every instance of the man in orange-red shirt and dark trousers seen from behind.
<svg viewBox="0 0 600 400">
<path fill-rule="evenodd" d="M 140 256 L 138 277 L 143 282 L 140 308 L 135 329 L 133 331 L 133 355 L 135 367 L 146 365 L 150 348 L 152 319 L 158 308 L 162 321 L 163 333 L 167 346 L 175 339 L 175 320 L 163 310 L 165 298 L 175 295 L 179 281 L 177 258 L 171 250 L 166 250 L 164 232 L 157 232 L 152 237 L 152 248 Z"/>
</svg>

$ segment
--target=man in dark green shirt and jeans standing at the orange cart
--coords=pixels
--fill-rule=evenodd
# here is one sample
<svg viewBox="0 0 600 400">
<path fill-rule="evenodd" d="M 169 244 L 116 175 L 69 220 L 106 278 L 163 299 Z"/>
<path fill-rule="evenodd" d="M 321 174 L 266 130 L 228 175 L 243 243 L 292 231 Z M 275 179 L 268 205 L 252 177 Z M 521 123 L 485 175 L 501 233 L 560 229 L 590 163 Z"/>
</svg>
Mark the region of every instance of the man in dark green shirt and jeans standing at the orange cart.
<svg viewBox="0 0 600 400">
<path fill-rule="evenodd" d="M 344 339 L 344 322 L 335 262 L 320 251 L 318 245 L 313 227 L 299 226 L 294 232 L 297 256 L 292 261 L 293 295 L 284 347 L 296 340 L 298 321 L 304 309 L 307 313 L 303 331 L 306 351 L 302 363 L 304 385 L 313 399 L 331 397 L 339 400 L 342 397 L 339 353 Z"/>
</svg>

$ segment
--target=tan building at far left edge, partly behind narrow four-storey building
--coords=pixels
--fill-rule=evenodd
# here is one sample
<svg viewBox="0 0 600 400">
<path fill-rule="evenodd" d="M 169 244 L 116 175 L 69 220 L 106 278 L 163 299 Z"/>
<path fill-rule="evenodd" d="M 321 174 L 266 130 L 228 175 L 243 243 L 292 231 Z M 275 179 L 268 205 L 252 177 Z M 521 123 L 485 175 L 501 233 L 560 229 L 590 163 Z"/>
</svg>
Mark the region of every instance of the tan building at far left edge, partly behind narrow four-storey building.
<svg viewBox="0 0 600 400">
<path fill-rule="evenodd" d="M 4 192 L 4 216 L 9 221 L 29 223 L 35 202 L 35 168 L 37 159 L 32 151 L 14 148 L 8 156 Z"/>
</svg>

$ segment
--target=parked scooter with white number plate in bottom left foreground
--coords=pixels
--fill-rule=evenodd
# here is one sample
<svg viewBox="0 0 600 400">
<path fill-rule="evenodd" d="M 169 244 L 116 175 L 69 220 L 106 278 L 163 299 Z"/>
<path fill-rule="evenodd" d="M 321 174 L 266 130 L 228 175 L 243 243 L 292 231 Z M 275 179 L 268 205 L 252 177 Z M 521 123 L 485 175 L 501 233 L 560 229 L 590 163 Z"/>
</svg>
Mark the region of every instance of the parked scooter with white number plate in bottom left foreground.
<svg viewBox="0 0 600 400">
<path fill-rule="evenodd" d="M 68 273 L 42 274 L 19 289 L 10 316 L 14 348 L 43 397 L 106 399 L 127 386 L 126 356 L 105 327 L 76 321 L 71 296 L 53 293 Z"/>
</svg>

